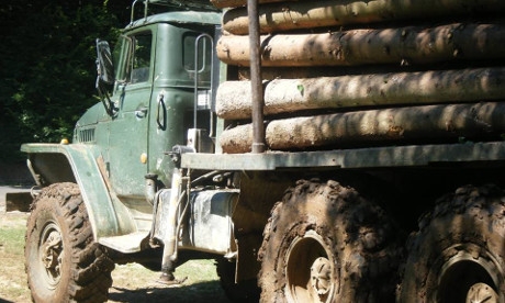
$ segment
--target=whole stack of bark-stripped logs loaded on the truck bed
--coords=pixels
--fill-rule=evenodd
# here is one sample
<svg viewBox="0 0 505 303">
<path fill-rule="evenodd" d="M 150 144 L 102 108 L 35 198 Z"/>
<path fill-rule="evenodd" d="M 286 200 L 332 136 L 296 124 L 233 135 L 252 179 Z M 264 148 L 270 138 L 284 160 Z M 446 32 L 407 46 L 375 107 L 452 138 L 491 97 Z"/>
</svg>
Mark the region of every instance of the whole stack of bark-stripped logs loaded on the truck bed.
<svg viewBox="0 0 505 303">
<path fill-rule="evenodd" d="M 220 59 L 225 153 L 250 150 L 246 0 L 226 8 Z M 505 133 L 505 1 L 260 0 L 267 146 L 495 139 Z M 242 124 L 242 125 L 240 125 Z M 238 125 L 232 127 L 232 125 Z"/>
</svg>

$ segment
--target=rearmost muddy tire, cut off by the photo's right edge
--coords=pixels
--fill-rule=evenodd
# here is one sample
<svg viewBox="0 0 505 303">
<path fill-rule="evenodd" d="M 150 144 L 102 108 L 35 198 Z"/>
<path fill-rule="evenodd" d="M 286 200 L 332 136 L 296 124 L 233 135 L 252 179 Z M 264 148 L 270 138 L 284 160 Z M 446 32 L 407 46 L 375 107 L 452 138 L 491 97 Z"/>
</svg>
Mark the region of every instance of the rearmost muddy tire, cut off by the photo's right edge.
<svg viewBox="0 0 505 303">
<path fill-rule="evenodd" d="M 505 302 L 505 192 L 463 187 L 408 240 L 400 302 Z"/>
</svg>

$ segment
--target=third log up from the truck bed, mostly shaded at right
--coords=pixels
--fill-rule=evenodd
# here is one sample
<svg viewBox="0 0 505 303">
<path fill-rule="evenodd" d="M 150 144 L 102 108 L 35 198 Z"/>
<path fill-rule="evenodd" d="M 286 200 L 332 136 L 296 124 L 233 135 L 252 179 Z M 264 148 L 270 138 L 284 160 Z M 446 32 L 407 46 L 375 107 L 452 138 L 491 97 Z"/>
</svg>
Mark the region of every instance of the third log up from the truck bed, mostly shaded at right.
<svg viewBox="0 0 505 303">
<path fill-rule="evenodd" d="M 228 65 L 248 66 L 247 41 L 247 36 L 222 36 L 216 46 L 218 58 Z M 504 23 L 261 36 L 261 64 L 267 67 L 416 65 L 493 58 L 505 58 Z"/>
</svg>

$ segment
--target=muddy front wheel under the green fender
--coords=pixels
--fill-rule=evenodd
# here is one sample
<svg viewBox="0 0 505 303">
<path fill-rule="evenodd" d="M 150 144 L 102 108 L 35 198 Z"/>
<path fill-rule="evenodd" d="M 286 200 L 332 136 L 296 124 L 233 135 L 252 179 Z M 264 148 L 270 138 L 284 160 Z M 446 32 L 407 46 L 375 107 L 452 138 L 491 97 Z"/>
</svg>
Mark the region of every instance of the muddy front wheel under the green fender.
<svg viewBox="0 0 505 303">
<path fill-rule="evenodd" d="M 93 242 L 79 187 L 57 183 L 35 199 L 25 268 L 34 302 L 104 302 L 113 261 Z"/>
</svg>

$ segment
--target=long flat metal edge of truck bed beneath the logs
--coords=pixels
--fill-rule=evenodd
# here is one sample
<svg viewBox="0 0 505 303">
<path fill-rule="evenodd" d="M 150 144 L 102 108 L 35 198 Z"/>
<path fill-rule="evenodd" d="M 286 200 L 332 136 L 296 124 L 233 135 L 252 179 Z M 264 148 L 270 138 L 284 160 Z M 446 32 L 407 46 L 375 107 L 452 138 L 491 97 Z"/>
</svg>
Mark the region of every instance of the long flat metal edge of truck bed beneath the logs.
<svg viewBox="0 0 505 303">
<path fill-rule="evenodd" d="M 273 170 L 290 168 L 381 168 L 437 162 L 505 161 L 505 143 L 388 146 L 325 152 L 255 154 L 184 154 L 182 167 L 207 170 Z"/>
</svg>

